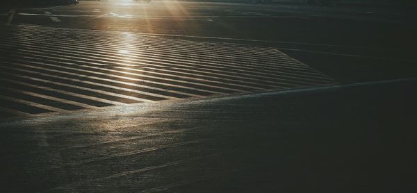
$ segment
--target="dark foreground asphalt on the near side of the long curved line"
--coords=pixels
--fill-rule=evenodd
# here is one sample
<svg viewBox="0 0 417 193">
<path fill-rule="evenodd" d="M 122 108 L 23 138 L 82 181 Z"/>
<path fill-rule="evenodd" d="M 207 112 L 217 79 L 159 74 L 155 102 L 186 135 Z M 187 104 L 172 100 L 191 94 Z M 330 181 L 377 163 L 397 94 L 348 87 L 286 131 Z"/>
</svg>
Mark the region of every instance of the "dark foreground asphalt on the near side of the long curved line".
<svg viewBox="0 0 417 193">
<path fill-rule="evenodd" d="M 416 79 L 3 122 L 1 192 L 415 192 Z"/>
</svg>

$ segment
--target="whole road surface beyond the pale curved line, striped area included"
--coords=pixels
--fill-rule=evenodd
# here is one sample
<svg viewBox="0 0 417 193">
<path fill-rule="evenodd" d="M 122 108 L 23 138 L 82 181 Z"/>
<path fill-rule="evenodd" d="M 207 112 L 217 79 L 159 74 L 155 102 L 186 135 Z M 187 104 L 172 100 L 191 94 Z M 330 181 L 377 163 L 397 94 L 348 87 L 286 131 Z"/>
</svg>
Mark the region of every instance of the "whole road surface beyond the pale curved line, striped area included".
<svg viewBox="0 0 417 193">
<path fill-rule="evenodd" d="M 412 10 L 81 1 L 10 10 L 3 117 L 416 77 Z"/>
</svg>

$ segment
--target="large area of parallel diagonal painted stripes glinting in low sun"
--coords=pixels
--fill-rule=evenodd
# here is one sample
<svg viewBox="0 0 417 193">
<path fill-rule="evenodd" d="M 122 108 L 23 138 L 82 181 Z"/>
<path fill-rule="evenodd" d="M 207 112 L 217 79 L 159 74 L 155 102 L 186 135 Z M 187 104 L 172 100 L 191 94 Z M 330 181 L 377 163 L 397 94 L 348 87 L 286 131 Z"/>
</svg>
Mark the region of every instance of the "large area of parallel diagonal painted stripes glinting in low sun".
<svg viewBox="0 0 417 193">
<path fill-rule="evenodd" d="M 272 47 L 40 26 L 0 35 L 0 117 L 334 83 Z"/>
</svg>

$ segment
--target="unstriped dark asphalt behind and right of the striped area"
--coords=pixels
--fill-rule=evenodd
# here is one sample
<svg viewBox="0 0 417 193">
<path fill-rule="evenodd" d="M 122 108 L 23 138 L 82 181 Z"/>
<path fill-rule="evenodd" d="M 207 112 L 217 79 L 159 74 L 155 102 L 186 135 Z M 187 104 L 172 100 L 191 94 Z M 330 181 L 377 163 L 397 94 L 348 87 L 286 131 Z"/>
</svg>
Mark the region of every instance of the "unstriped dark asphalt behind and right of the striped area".
<svg viewBox="0 0 417 193">
<path fill-rule="evenodd" d="M 263 40 L 336 81 L 360 82 L 416 77 L 415 18 L 406 8 L 81 1 L 18 10 L 12 24 Z"/>
</svg>

